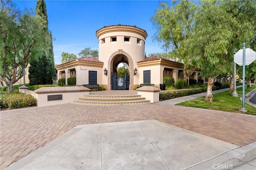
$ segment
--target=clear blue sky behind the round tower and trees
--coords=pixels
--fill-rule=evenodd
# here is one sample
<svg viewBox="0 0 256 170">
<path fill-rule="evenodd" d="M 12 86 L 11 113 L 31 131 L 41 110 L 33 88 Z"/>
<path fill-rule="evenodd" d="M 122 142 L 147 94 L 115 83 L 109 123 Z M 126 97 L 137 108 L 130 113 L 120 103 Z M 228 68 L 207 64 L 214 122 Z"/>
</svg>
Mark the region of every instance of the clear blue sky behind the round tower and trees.
<svg viewBox="0 0 256 170">
<path fill-rule="evenodd" d="M 36 8 L 36 0 L 15 0 L 17 8 Z M 78 53 L 91 47 L 98 50 L 96 30 L 109 25 L 136 25 L 148 33 L 145 51 L 162 52 L 153 42 L 156 32 L 150 21 L 159 6 L 158 0 L 46 0 L 48 28 L 52 31 L 55 64 L 60 64 L 62 52 Z M 162 2 L 162 1 L 161 1 Z M 170 2 L 170 1 L 168 1 Z"/>
</svg>

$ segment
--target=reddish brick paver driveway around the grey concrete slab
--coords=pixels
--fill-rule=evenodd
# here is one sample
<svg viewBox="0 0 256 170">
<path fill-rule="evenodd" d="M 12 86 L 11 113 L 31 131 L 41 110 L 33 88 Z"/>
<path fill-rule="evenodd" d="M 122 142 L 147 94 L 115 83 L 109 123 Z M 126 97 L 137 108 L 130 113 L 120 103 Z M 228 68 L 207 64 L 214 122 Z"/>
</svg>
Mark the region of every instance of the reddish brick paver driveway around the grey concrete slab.
<svg viewBox="0 0 256 170">
<path fill-rule="evenodd" d="M 43 147 L 76 125 L 156 119 L 228 143 L 256 141 L 256 116 L 182 106 L 65 104 L 2 111 L 1 169 Z"/>
</svg>

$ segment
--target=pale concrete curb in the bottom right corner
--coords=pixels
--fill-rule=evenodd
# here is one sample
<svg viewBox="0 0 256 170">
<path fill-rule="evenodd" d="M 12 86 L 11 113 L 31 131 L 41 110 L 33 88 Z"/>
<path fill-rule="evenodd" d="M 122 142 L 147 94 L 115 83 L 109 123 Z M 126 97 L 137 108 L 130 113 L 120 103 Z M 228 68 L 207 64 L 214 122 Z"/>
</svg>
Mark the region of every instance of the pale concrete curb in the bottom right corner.
<svg viewBox="0 0 256 170">
<path fill-rule="evenodd" d="M 256 159 L 256 141 L 246 146 L 230 150 L 211 160 L 197 164 L 187 170 L 226 170 Z"/>
</svg>

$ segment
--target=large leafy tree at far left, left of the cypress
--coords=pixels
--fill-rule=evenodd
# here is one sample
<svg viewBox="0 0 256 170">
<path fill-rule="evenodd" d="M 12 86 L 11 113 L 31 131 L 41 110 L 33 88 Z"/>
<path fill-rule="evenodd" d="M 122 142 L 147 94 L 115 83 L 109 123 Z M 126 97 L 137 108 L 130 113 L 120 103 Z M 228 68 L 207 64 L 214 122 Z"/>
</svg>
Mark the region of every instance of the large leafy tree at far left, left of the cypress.
<svg viewBox="0 0 256 170">
<path fill-rule="evenodd" d="M 0 76 L 12 93 L 15 82 L 23 76 L 23 66 L 43 50 L 45 20 L 28 10 L 21 12 L 11 1 L 0 1 Z"/>
</svg>

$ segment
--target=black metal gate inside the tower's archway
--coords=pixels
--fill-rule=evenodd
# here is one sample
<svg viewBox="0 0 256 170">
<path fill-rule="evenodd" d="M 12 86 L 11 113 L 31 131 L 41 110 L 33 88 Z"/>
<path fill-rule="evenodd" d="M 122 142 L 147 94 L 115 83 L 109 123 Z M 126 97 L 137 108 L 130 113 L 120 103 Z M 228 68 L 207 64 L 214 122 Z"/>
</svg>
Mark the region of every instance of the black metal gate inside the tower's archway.
<svg viewBox="0 0 256 170">
<path fill-rule="evenodd" d="M 112 90 L 129 90 L 130 76 L 125 74 L 123 78 L 117 78 L 116 73 L 111 76 Z"/>
</svg>

